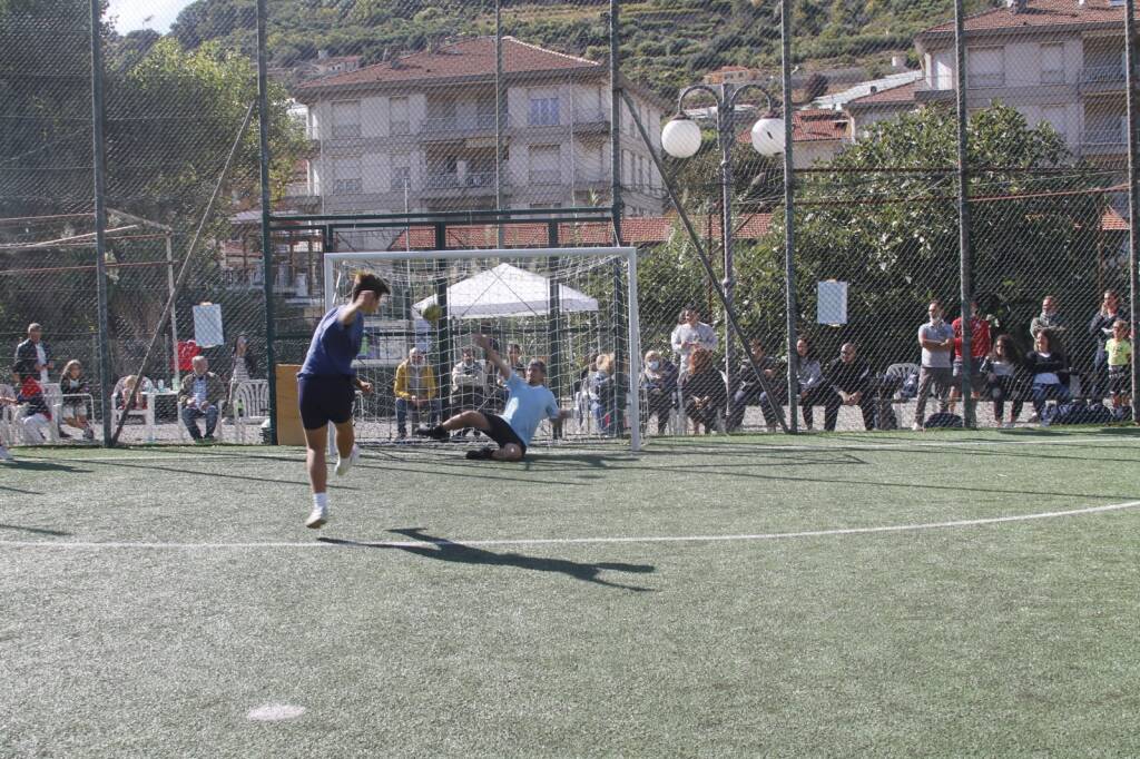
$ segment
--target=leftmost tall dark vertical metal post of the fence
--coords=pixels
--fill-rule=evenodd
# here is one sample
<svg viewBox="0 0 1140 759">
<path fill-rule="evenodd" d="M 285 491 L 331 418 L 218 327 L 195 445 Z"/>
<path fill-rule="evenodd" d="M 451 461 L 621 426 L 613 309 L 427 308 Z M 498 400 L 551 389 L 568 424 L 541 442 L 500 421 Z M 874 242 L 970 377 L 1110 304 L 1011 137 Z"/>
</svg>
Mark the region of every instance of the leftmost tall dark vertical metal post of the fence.
<svg viewBox="0 0 1140 759">
<path fill-rule="evenodd" d="M 91 137 L 95 150 L 95 279 L 99 320 L 99 403 L 103 444 L 111 447 L 111 340 L 107 329 L 107 152 L 104 141 L 103 3 L 91 0 Z"/>
</svg>

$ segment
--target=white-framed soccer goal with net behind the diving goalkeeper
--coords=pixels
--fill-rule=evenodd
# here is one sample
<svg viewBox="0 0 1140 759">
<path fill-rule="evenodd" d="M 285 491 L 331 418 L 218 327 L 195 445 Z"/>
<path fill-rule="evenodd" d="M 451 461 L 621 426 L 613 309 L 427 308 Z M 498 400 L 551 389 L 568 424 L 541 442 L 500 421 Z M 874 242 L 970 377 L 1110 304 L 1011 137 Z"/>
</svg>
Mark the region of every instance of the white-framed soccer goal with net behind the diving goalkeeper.
<svg viewBox="0 0 1140 759">
<path fill-rule="evenodd" d="M 473 341 L 482 333 L 524 376 L 546 384 L 570 417 L 544 422 L 531 444 L 628 441 L 641 448 L 641 337 L 633 247 L 396 251 L 325 255 L 325 305 L 348 300 L 352 276 L 392 288 L 365 321 L 356 366 L 373 384 L 357 399 L 357 438 L 427 444 L 418 425 L 467 409 L 498 414 L 503 379 Z M 473 431 L 455 442 L 486 443 Z"/>
</svg>

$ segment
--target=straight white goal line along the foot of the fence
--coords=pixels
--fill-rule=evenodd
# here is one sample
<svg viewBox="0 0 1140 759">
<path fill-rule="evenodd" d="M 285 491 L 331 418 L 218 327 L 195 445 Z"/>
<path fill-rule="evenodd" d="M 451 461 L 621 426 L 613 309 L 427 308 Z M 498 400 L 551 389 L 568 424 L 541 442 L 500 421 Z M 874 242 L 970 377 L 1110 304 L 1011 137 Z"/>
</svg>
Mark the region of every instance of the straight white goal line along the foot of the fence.
<svg viewBox="0 0 1140 759">
<path fill-rule="evenodd" d="M 915 434 L 915 438 L 918 438 L 920 433 L 914 433 L 914 434 Z M 934 433 L 934 434 L 938 434 L 938 433 Z M 834 440 L 834 439 L 832 439 L 832 440 Z M 1020 446 L 1069 446 L 1069 444 L 1074 444 L 1074 443 L 1086 443 L 1086 442 L 1133 442 L 1133 441 L 1137 443 L 1137 450 L 1138 450 L 1138 452 L 1140 452 L 1140 435 L 1137 435 L 1134 438 L 1133 436 L 1129 436 L 1129 435 L 1123 435 L 1123 436 L 1122 435 L 1081 435 L 1081 436 L 1060 438 L 1060 439 L 1057 439 L 1057 440 L 946 440 L 946 441 L 942 441 L 942 442 L 939 442 L 937 440 L 929 440 L 929 439 L 927 439 L 927 440 L 918 440 L 918 439 L 915 439 L 915 440 L 904 440 L 904 441 L 898 441 L 898 442 L 881 442 L 881 443 L 877 443 L 877 442 L 865 442 L 865 443 L 844 443 L 844 442 L 839 442 L 839 443 L 833 443 L 833 444 L 831 444 L 831 443 L 821 443 L 821 444 L 817 444 L 817 446 L 812 446 L 812 444 L 791 444 L 791 443 L 789 443 L 789 444 L 772 444 L 772 446 L 767 446 L 767 444 L 763 444 L 763 443 L 755 444 L 755 443 L 750 443 L 750 442 L 740 442 L 740 443 L 735 443 L 735 444 L 725 443 L 723 446 L 722 444 L 715 444 L 715 443 L 714 444 L 708 444 L 708 446 L 689 446 L 689 447 L 685 447 L 685 450 L 690 450 L 690 451 L 694 451 L 694 452 L 699 451 L 699 452 L 711 452 L 711 454 L 715 454 L 717 451 L 723 452 L 723 451 L 726 451 L 726 450 L 739 451 L 740 448 L 742 448 L 742 447 L 755 446 L 755 448 L 754 448 L 755 451 L 757 454 L 762 454 L 764 451 L 893 450 L 893 449 L 899 449 L 899 448 L 901 449 L 910 449 L 910 448 L 977 448 L 977 447 L 980 447 L 980 446 L 997 446 L 997 447 L 1007 447 L 1007 446 L 1009 446 L 1009 447 L 1020 447 Z M 548 449 L 544 449 L 544 448 L 540 448 L 538 446 L 535 446 L 535 447 L 531 448 L 531 450 L 535 450 L 535 451 L 542 451 L 542 450 L 554 450 L 554 451 L 557 451 L 557 450 L 562 450 L 562 449 L 563 449 L 562 447 L 557 447 L 557 448 L 551 447 Z M 209 463 L 211 460 L 235 462 L 235 460 L 239 460 L 239 457 L 233 456 L 231 454 L 242 452 L 239 448 L 235 447 L 235 448 L 229 448 L 229 449 L 226 450 L 227 456 L 225 456 L 225 457 L 219 456 L 219 457 L 215 457 L 215 458 L 210 458 L 209 454 L 204 454 L 203 455 L 203 454 L 190 454 L 190 452 L 187 452 L 187 454 L 168 454 L 168 455 L 150 455 L 150 456 L 128 456 L 127 454 L 130 452 L 130 451 L 123 451 L 122 454 L 119 454 L 119 455 L 108 455 L 108 456 L 78 456 L 78 457 L 74 457 L 74 458 L 66 458 L 66 457 L 58 457 L 58 456 L 38 456 L 38 455 L 34 455 L 34 454 L 28 454 L 28 452 L 24 452 L 23 456 L 21 456 L 22 450 L 26 451 L 26 449 L 15 448 L 13 450 L 14 450 L 16 457 L 17 457 L 17 463 L 19 462 L 21 458 L 23 458 L 24 460 L 31 460 L 31 462 L 49 462 L 49 463 L 50 462 L 63 462 L 63 463 L 68 463 L 68 464 L 82 464 L 83 462 L 122 462 L 124 458 L 127 458 L 130 463 L 135 463 L 135 462 L 178 462 L 178 460 L 199 460 L 199 462 L 206 462 L 206 463 Z M 442 449 L 442 448 L 439 448 L 437 446 L 424 446 L 421 449 L 421 451 L 432 451 L 432 452 L 447 451 L 447 450 L 449 450 L 449 449 Z M 461 450 L 464 450 L 464 448 L 456 447 L 454 450 L 455 451 L 461 451 Z M 567 450 L 571 450 L 571 449 L 567 448 Z M 602 452 L 609 451 L 609 452 L 613 452 L 616 457 L 617 456 L 636 456 L 636 454 L 629 454 L 628 451 L 617 450 L 614 448 L 589 448 L 587 446 L 587 447 L 581 447 L 581 448 L 576 447 L 572 450 L 579 450 L 579 451 L 580 450 L 598 450 L 598 451 L 602 451 Z M 137 452 L 137 451 L 135 451 L 135 452 Z M 410 449 L 399 449 L 399 450 L 393 449 L 393 450 L 390 450 L 388 452 L 393 452 L 393 454 L 394 452 L 407 452 L 407 454 L 413 454 L 414 455 L 417 451 L 413 447 Z M 652 454 L 653 452 L 652 446 L 650 444 L 650 447 L 645 451 L 643 451 L 643 452 Z M 368 450 L 367 449 L 365 449 L 363 451 L 363 454 L 364 454 L 365 458 L 368 458 Z M 282 449 L 282 450 L 279 450 L 277 452 L 274 452 L 271 455 L 264 455 L 264 456 L 261 456 L 261 455 L 258 455 L 258 454 L 252 454 L 252 452 L 250 452 L 250 454 L 242 454 L 242 455 L 244 456 L 244 458 L 246 458 L 249 460 L 258 460 L 258 459 L 279 460 L 282 458 L 296 458 L 298 460 L 301 460 L 301 459 L 304 458 L 304 451 L 303 450 L 301 450 L 301 449 L 295 449 L 294 450 L 294 449 L 288 449 L 288 448 Z M 408 458 L 413 458 L 413 457 L 409 456 Z M 556 456 L 555 456 L 555 458 L 556 458 Z M 399 460 L 407 460 L 407 459 L 400 458 Z M 0 471 L 2 471 L 2 468 L 0 468 Z"/>
</svg>

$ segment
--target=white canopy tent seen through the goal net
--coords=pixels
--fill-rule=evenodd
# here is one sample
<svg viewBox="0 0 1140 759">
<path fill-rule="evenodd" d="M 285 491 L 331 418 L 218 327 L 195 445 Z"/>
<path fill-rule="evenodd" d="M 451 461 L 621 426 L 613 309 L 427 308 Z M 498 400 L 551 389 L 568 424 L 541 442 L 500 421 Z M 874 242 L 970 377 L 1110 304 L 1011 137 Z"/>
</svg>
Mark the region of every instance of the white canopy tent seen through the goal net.
<svg viewBox="0 0 1140 759">
<path fill-rule="evenodd" d="M 413 305 L 417 316 L 438 301 L 435 295 Z M 546 316 L 551 311 L 551 283 L 546 277 L 500 263 L 447 288 L 447 311 L 454 319 Z M 597 300 L 573 287 L 559 285 L 559 311 L 597 311 Z"/>
</svg>

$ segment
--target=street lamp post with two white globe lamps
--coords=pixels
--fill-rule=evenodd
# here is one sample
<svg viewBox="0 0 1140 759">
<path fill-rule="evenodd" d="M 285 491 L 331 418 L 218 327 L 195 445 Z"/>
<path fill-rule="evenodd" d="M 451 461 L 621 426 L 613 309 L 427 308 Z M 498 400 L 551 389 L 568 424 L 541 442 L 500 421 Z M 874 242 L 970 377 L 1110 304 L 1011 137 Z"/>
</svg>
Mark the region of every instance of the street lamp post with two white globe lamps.
<svg viewBox="0 0 1140 759">
<path fill-rule="evenodd" d="M 717 145 L 720 148 L 720 223 L 722 240 L 724 243 L 724 300 L 725 300 L 725 341 L 724 341 L 724 374 L 725 390 L 728 398 L 732 398 L 732 373 L 733 350 L 728 325 L 733 308 L 733 293 L 735 289 L 734 262 L 733 262 L 733 221 L 732 221 L 732 146 L 736 140 L 734 116 L 736 101 L 740 96 L 750 90 L 756 90 L 764 95 L 767 101 L 766 113 L 772 113 L 772 93 L 759 84 L 744 84 L 734 87 L 725 84 L 693 84 L 681 91 L 677 98 L 677 115 L 673 117 L 661 130 L 661 147 L 675 158 L 689 158 L 697 154 L 701 147 L 701 129 L 685 114 L 685 98 L 693 92 L 705 92 L 716 101 L 716 134 Z M 758 120 L 752 125 L 752 147 L 764 156 L 775 156 L 784 152 L 784 122 L 781 119 L 766 116 Z M 789 357 L 790 359 L 790 357 Z"/>
</svg>

